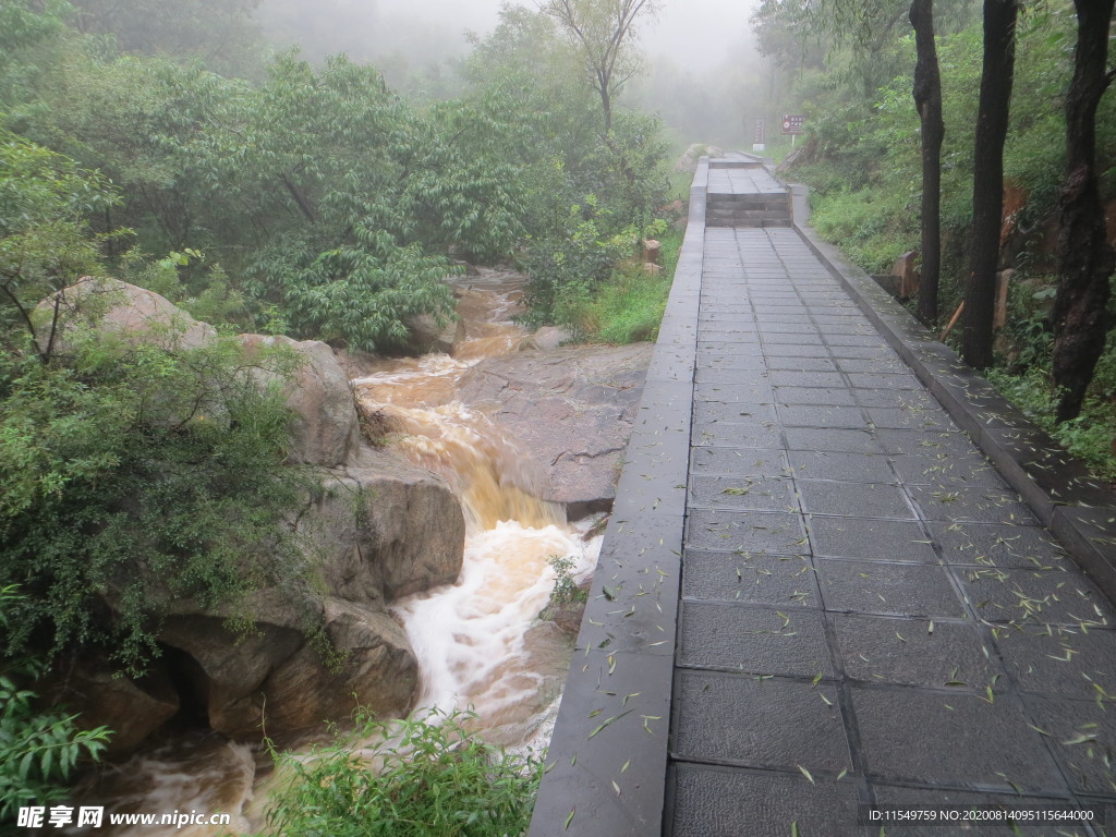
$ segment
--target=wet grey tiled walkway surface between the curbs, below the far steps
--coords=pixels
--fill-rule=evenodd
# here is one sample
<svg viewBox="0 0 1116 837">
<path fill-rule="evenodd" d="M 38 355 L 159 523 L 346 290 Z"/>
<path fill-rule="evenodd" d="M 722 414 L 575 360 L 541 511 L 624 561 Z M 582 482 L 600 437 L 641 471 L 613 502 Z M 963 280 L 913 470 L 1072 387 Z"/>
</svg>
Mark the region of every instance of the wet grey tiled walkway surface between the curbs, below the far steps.
<svg viewBox="0 0 1116 837">
<path fill-rule="evenodd" d="M 682 564 L 672 837 L 1116 802 L 1112 605 L 792 229 L 705 234 Z"/>
</svg>

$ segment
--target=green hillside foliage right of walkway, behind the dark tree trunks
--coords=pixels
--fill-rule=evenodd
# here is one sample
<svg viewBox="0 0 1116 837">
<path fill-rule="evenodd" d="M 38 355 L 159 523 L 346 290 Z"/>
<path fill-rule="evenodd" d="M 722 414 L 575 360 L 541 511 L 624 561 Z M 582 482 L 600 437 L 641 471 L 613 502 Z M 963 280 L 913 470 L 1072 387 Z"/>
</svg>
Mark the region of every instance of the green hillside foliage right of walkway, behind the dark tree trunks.
<svg viewBox="0 0 1116 837">
<path fill-rule="evenodd" d="M 809 136 L 793 171 L 811 187 L 811 223 L 873 273 L 887 272 L 899 254 L 920 246 L 918 116 L 911 97 L 914 37 L 901 6 L 873 8 L 892 18 L 891 25 L 876 18 L 835 20 L 836 9 L 860 8 L 836 0 L 810 7 L 812 12 L 768 0 L 756 19 L 761 44 L 781 67 L 780 106 L 809 116 Z M 944 321 L 963 298 L 969 269 L 982 31 L 974 3 L 958 0 L 934 8 L 946 128 L 941 172 Z M 822 26 L 826 15 L 828 28 Z M 1083 417 L 1059 425 L 1054 419 L 1058 395 L 1050 386 L 1056 210 L 1066 161 L 1061 102 L 1072 73 L 1074 30 L 1072 7 L 1056 2 L 1027 7 L 1017 31 L 1000 253 L 1001 268 L 1012 275 L 1008 321 L 995 340 L 999 371 L 991 377 L 1074 452 L 1112 477 L 1113 341 L 1097 367 Z M 802 32 L 808 32 L 805 42 Z M 1116 196 L 1110 174 L 1116 100 L 1110 95 L 1101 99 L 1097 121 L 1101 198 L 1109 201 Z"/>
</svg>

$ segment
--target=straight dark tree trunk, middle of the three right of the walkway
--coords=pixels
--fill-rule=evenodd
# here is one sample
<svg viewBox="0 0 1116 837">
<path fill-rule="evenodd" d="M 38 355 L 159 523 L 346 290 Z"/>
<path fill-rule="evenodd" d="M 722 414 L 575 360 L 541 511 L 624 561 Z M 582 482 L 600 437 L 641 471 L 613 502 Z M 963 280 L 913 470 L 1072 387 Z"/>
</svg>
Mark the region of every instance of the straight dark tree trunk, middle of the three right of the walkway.
<svg viewBox="0 0 1116 837">
<path fill-rule="evenodd" d="M 1003 141 L 1016 65 L 1020 0 L 984 0 L 984 62 L 973 150 L 972 260 L 965 288 L 961 353 L 978 369 L 992 365 L 995 270 L 1003 224 Z"/>
</svg>

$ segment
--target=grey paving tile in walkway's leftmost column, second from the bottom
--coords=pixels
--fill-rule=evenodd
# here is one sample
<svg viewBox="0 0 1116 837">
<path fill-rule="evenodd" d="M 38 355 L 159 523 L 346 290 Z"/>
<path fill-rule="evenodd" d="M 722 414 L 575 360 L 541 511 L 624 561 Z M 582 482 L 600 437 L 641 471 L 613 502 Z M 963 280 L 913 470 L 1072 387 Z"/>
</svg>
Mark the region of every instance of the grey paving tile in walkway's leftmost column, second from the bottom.
<svg viewBox="0 0 1116 837">
<path fill-rule="evenodd" d="M 680 671 L 675 758 L 769 770 L 839 773 L 853 767 L 829 683 Z"/>
</svg>

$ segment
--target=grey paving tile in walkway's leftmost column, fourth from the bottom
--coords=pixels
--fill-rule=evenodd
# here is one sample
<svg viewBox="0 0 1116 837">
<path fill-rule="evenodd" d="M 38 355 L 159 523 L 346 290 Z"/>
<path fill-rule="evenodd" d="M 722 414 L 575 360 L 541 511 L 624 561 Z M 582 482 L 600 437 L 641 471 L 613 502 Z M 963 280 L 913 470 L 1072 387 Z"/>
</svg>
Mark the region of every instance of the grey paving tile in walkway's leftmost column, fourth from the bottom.
<svg viewBox="0 0 1116 837">
<path fill-rule="evenodd" d="M 705 602 L 819 607 L 814 566 L 806 556 L 686 549 L 682 597 Z"/>
</svg>

